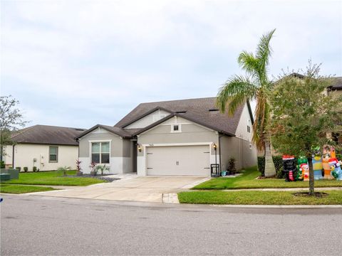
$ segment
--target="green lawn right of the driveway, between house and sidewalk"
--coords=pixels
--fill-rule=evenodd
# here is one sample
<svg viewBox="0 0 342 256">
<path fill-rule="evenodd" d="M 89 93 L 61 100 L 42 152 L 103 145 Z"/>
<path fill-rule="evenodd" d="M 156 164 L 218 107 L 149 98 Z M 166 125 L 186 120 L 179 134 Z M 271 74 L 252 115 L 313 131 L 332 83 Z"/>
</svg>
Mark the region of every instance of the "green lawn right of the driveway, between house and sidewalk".
<svg viewBox="0 0 342 256">
<path fill-rule="evenodd" d="M 239 188 L 309 188 L 309 181 L 286 182 L 279 178 L 255 179 L 260 175 L 257 167 L 246 169 L 236 178 L 212 178 L 192 189 L 239 189 Z M 315 181 L 316 188 L 342 187 L 342 181 Z"/>
</svg>

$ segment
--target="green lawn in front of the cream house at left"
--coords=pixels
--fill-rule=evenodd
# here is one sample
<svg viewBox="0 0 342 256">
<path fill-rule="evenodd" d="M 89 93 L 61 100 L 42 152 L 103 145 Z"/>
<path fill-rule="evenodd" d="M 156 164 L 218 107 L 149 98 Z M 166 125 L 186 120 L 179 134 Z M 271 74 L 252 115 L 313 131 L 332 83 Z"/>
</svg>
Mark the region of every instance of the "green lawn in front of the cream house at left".
<svg viewBox="0 0 342 256">
<path fill-rule="evenodd" d="M 75 175 L 76 171 L 68 171 L 68 175 Z M 51 185 L 51 186 L 88 186 L 103 183 L 98 178 L 64 177 L 60 171 L 39 171 L 20 173 L 19 179 L 3 181 L 4 184 Z"/>
</svg>

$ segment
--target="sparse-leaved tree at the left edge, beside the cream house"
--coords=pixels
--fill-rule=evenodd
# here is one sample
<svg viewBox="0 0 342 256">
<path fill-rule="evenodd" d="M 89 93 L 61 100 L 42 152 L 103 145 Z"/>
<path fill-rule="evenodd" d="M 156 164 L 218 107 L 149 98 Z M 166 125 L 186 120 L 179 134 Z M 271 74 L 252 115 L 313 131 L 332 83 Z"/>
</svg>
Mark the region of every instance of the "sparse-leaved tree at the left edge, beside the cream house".
<svg viewBox="0 0 342 256">
<path fill-rule="evenodd" d="M 14 142 L 11 139 L 13 132 L 24 127 L 27 123 L 21 111 L 16 107 L 19 101 L 11 95 L 0 97 L 0 160 L 4 156 L 4 146 L 11 145 Z"/>
</svg>

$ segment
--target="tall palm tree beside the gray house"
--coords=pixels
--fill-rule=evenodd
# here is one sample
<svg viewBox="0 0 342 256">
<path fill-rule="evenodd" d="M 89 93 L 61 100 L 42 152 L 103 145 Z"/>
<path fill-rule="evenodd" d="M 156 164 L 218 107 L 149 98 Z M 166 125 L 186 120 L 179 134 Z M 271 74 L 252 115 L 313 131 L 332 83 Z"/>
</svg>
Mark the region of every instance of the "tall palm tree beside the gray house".
<svg viewBox="0 0 342 256">
<path fill-rule="evenodd" d="M 269 102 L 267 94 L 271 89 L 272 82 L 267 76 L 269 57 L 272 50 L 269 42 L 275 29 L 261 36 L 257 46 L 257 53 L 243 51 L 237 59 L 239 65 L 246 71 L 246 75 L 234 75 L 219 89 L 217 95 L 217 106 L 221 112 L 228 111 L 234 114 L 237 107 L 246 101 L 256 100 L 255 121 L 253 124 L 253 139 L 259 152 L 264 151 L 265 176 L 275 176 L 269 134 L 266 132 L 266 125 L 269 121 Z"/>
</svg>

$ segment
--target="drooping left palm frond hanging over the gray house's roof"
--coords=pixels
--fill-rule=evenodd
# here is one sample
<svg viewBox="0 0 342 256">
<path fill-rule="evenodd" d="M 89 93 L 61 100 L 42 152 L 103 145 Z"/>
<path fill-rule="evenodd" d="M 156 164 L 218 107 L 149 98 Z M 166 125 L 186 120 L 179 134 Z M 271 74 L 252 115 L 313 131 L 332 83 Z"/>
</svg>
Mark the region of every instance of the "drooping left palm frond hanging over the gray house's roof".
<svg viewBox="0 0 342 256">
<path fill-rule="evenodd" d="M 217 94 L 217 107 L 221 112 L 225 112 L 228 108 L 229 114 L 234 114 L 237 107 L 245 100 L 252 100 L 257 95 L 257 87 L 249 78 L 235 75 L 229 78 L 222 85 Z"/>
</svg>

